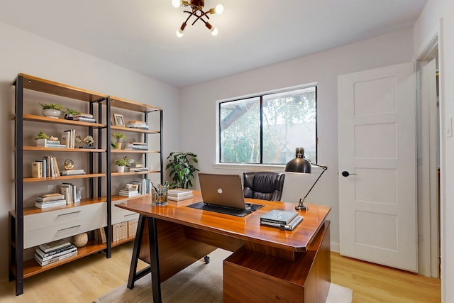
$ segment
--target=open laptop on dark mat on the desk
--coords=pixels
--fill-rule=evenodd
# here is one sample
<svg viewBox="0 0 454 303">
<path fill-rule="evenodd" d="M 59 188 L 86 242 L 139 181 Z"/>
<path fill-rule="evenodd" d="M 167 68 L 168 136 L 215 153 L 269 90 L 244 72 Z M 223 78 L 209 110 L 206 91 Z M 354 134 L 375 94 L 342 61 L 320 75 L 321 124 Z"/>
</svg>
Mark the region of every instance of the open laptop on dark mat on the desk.
<svg viewBox="0 0 454 303">
<path fill-rule="evenodd" d="M 199 173 L 202 201 L 189 207 L 216 211 L 221 214 L 245 216 L 260 209 L 262 204 L 246 203 L 239 175 Z"/>
</svg>

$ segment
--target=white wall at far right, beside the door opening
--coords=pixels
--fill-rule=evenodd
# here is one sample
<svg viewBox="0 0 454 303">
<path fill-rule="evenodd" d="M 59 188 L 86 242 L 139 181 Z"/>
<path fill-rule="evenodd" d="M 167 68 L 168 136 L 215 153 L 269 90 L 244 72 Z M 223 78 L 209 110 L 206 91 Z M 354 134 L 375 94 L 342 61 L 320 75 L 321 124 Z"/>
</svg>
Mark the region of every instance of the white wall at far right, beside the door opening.
<svg viewBox="0 0 454 303">
<path fill-rule="evenodd" d="M 444 136 L 454 117 L 454 1 L 428 0 L 414 26 L 414 57 L 419 57 L 437 33 L 441 107 L 441 297 L 454 298 L 454 137 Z"/>
</svg>

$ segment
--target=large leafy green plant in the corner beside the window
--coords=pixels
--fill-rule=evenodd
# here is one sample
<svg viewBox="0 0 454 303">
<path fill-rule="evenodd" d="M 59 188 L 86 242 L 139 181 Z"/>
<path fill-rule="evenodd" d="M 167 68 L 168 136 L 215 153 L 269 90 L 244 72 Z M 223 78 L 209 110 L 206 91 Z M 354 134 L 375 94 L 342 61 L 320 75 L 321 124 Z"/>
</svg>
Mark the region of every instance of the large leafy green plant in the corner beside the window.
<svg viewBox="0 0 454 303">
<path fill-rule="evenodd" d="M 170 177 L 173 182 L 170 183 L 170 188 L 189 188 L 192 187 L 194 172 L 198 172 L 192 163 L 198 163 L 197 155 L 194 153 L 179 153 L 172 152 L 167 157 L 169 163 L 165 169 L 170 169 Z"/>
</svg>

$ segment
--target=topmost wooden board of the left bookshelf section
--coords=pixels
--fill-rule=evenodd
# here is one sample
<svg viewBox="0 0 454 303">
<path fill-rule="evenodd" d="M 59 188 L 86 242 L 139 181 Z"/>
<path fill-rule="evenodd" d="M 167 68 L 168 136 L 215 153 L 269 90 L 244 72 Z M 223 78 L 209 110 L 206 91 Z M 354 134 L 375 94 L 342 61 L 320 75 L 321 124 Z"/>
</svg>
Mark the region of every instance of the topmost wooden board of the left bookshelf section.
<svg viewBox="0 0 454 303">
<path fill-rule="evenodd" d="M 55 94 L 57 96 L 68 97 L 82 101 L 99 101 L 101 99 L 107 98 L 107 95 L 105 94 L 90 92 L 85 89 L 79 89 L 70 85 L 33 77 L 31 75 L 19 74 L 18 76 L 23 77 L 24 88 L 37 92 L 45 92 L 48 94 Z M 17 79 L 14 80 L 13 85 L 16 85 L 16 82 Z"/>
</svg>

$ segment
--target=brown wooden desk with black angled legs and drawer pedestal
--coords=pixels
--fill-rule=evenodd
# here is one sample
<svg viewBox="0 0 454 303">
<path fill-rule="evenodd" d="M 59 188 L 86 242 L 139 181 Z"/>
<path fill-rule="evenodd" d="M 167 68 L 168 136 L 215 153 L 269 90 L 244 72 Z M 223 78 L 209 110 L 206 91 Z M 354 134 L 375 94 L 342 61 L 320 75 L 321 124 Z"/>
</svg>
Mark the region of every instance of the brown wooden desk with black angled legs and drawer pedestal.
<svg viewBox="0 0 454 303">
<path fill-rule="evenodd" d="M 150 197 L 116 206 L 140 214 L 128 287 L 151 271 L 153 300 L 161 302 L 160 282 L 216 248 L 233 251 L 223 263 L 223 302 L 325 302 L 331 282 L 329 206 L 308 204 L 294 231 L 260 226 L 272 209 L 294 211 L 293 203 L 247 199 L 265 204 L 243 218 L 187 207 L 194 198 L 153 206 Z M 147 227 L 148 226 L 148 227 Z M 136 272 L 140 258 L 150 269 Z"/>
</svg>

